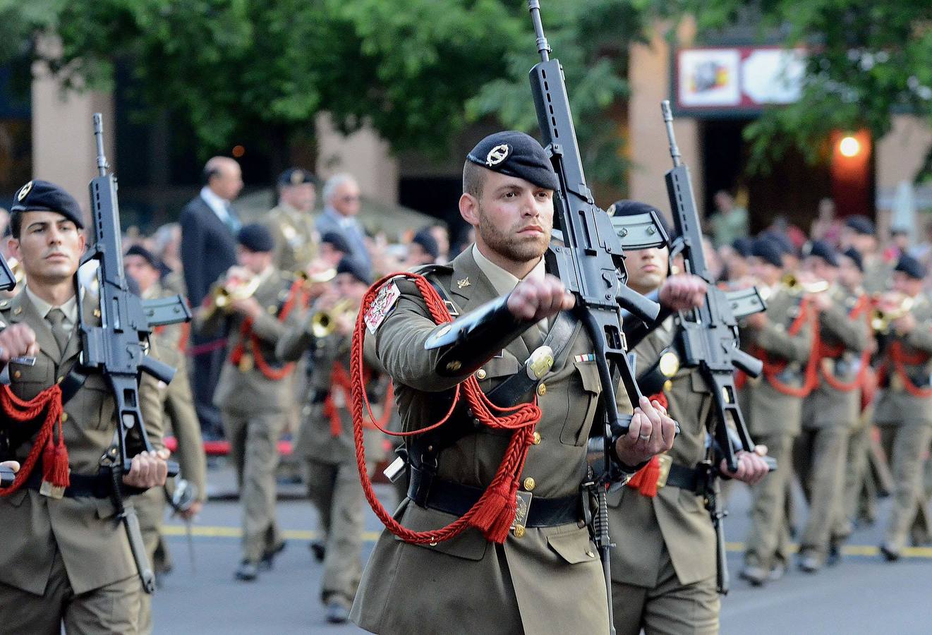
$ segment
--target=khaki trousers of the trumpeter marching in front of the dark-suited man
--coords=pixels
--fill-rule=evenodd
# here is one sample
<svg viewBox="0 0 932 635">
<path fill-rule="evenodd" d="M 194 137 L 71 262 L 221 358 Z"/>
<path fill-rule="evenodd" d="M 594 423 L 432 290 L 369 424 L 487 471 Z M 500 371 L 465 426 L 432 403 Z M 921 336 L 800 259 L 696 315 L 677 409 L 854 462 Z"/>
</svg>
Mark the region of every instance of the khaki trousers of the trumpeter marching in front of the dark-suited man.
<svg viewBox="0 0 932 635">
<path fill-rule="evenodd" d="M 276 410 L 242 414 L 224 409 L 222 414 L 240 484 L 242 558 L 257 562 L 282 542 L 275 521 L 275 474 L 288 417 Z"/>
</svg>

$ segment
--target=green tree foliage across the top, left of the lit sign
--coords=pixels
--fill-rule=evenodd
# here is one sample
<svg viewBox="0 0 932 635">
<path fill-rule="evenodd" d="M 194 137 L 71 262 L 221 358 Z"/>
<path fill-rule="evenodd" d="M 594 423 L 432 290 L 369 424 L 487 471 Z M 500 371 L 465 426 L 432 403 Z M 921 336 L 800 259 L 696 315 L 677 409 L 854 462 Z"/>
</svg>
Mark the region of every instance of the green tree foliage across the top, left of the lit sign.
<svg viewBox="0 0 932 635">
<path fill-rule="evenodd" d="M 624 173 L 606 114 L 625 95 L 647 4 L 543 3 L 586 164 L 605 180 Z M 61 51 L 37 46 L 42 34 Z M 320 111 L 342 131 L 369 122 L 396 150 L 438 154 L 483 117 L 537 125 L 523 0 L 0 0 L 0 42 L 0 62 L 45 59 L 73 87 L 106 87 L 128 64 L 139 101 L 184 117 L 208 147 L 240 131 L 307 137 Z"/>
</svg>

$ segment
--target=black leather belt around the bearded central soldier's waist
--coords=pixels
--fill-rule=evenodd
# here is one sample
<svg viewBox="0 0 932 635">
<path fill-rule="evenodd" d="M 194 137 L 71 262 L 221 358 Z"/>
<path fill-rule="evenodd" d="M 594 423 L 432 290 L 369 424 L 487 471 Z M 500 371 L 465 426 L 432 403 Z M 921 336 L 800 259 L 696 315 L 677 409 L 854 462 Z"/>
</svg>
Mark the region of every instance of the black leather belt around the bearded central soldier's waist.
<svg viewBox="0 0 932 635">
<path fill-rule="evenodd" d="M 479 500 L 483 491 L 469 485 L 454 483 L 443 478 L 434 477 L 426 499 L 421 503 L 414 493 L 420 485 L 420 471 L 411 470 L 411 481 L 408 486 L 408 497 L 421 507 L 435 509 L 439 512 L 463 516 L 473 504 Z M 579 494 L 563 498 L 531 498 L 528 509 L 526 527 L 555 527 L 571 522 L 579 522 L 583 518 L 582 499 Z"/>
</svg>

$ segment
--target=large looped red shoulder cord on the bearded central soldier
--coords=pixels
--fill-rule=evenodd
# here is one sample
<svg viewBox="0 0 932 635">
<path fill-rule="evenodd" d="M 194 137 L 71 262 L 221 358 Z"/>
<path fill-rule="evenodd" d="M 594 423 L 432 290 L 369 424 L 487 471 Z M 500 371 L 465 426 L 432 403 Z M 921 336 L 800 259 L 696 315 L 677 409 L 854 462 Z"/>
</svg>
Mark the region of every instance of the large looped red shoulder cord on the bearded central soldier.
<svg viewBox="0 0 932 635">
<path fill-rule="evenodd" d="M 363 482 L 365 498 L 386 529 L 407 543 L 434 545 L 457 536 L 469 527 L 475 527 L 482 531 L 489 542 L 501 545 L 508 537 L 508 530 L 514 522 L 518 477 L 521 476 L 521 472 L 524 470 L 528 448 L 534 438 L 534 428 L 541 421 L 541 408 L 537 406 L 537 397 L 535 396 L 533 401 L 528 404 L 518 404 L 514 407 L 497 407 L 488 400 L 486 394 L 479 388 L 478 380 L 471 375 L 457 384 L 453 395 L 453 404 L 440 421 L 411 432 L 390 432 L 380 426 L 372 414 L 372 407 L 365 394 L 365 385 L 363 383 L 363 338 L 365 335 L 364 329 L 366 328 L 364 316 L 366 311 L 369 310 L 369 305 L 375 300 L 382 284 L 397 277 L 407 278 L 417 285 L 418 292 L 424 298 L 428 311 L 431 312 L 431 317 L 436 324 L 445 324 L 452 321 L 443 299 L 426 278 L 416 273 L 407 271 L 391 273 L 369 287 L 363 297 L 363 306 L 356 317 L 356 328 L 353 332 L 349 371 L 352 386 L 352 427 L 353 439 L 356 443 L 356 465 L 359 468 L 359 476 Z M 394 518 L 391 518 L 391 514 L 378 502 L 376 494 L 372 490 L 372 481 L 369 479 L 365 467 L 363 407 L 368 411 L 370 420 L 385 434 L 411 436 L 423 434 L 443 425 L 453 414 L 460 398 L 466 399 L 476 419 L 484 425 L 493 430 L 510 430 L 513 432 L 511 440 L 508 442 L 508 448 L 505 449 L 504 457 L 498 471 L 492 478 L 492 482 L 468 512 L 441 529 L 433 531 L 409 530 Z"/>
</svg>

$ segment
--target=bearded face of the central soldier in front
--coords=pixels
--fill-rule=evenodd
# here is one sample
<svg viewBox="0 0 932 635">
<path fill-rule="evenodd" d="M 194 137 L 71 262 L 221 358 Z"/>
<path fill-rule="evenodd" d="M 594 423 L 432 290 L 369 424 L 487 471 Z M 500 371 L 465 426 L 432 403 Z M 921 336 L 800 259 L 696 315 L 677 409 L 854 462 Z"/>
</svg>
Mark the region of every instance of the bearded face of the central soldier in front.
<svg viewBox="0 0 932 635">
<path fill-rule="evenodd" d="M 554 190 L 488 171 L 482 196 L 463 194 L 459 213 L 476 229 L 475 242 L 514 263 L 538 260 L 554 228 Z"/>
</svg>

